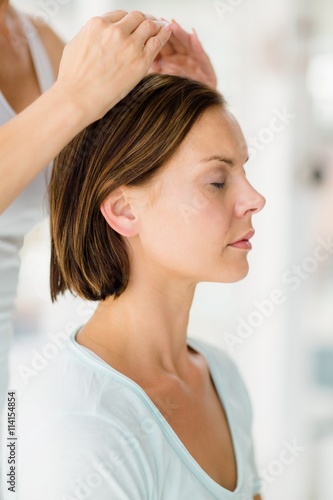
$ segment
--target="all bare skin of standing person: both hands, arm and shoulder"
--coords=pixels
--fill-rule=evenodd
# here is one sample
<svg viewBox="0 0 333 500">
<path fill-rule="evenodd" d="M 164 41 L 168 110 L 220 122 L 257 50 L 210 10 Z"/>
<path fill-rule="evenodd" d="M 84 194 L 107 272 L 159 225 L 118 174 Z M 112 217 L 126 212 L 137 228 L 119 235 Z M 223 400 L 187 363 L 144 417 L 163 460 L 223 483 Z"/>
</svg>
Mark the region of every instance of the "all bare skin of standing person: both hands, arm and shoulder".
<svg viewBox="0 0 333 500">
<path fill-rule="evenodd" d="M 78 132 L 124 97 L 152 64 L 155 72 L 169 71 L 216 85 L 197 36 L 178 24 L 171 34 L 173 27 L 140 12 L 112 12 L 90 20 L 62 56 L 61 40 L 47 26 L 36 26 L 55 76 L 59 71 L 55 85 L 40 96 L 20 19 L 8 0 L 0 0 L 0 89 L 20 113 L 0 127 L 0 214 Z M 158 54 L 163 47 L 162 69 Z"/>
</svg>

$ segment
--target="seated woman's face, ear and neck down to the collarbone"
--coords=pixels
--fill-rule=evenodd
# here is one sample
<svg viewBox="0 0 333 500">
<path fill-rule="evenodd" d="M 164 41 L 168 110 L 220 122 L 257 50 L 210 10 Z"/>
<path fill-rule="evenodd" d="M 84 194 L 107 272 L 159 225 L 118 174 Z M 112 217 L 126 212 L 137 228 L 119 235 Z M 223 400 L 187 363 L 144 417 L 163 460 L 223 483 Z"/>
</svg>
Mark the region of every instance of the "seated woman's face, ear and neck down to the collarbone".
<svg viewBox="0 0 333 500">
<path fill-rule="evenodd" d="M 210 160 L 214 155 L 233 166 Z M 247 252 L 231 244 L 249 233 L 264 199 L 245 177 L 246 159 L 237 122 L 215 109 L 193 127 L 152 185 L 110 195 L 102 211 L 127 235 L 130 281 L 119 298 L 99 305 L 79 343 L 95 352 L 98 346 L 97 354 L 133 378 L 173 373 L 186 379 L 193 362 L 186 335 L 196 284 L 238 281 L 248 272 Z M 216 187 L 220 183 L 226 187 Z M 200 208 L 184 215 L 184 204 L 199 199 Z"/>
</svg>

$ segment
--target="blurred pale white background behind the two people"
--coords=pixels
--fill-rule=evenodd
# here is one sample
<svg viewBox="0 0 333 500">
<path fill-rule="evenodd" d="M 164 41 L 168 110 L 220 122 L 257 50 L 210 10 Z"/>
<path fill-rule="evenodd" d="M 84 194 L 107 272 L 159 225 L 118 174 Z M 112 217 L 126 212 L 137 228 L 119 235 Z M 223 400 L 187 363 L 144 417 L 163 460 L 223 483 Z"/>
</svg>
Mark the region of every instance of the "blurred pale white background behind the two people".
<svg viewBox="0 0 333 500">
<path fill-rule="evenodd" d="M 69 40 L 91 16 L 138 9 L 195 28 L 247 138 L 249 276 L 201 284 L 189 334 L 225 349 L 251 394 L 263 498 L 333 499 L 333 3 L 331 0 L 16 0 Z M 52 117 L 50 117 L 51 119 Z M 26 237 L 11 353 L 24 390 L 93 304 L 51 305 L 47 222 Z"/>
</svg>

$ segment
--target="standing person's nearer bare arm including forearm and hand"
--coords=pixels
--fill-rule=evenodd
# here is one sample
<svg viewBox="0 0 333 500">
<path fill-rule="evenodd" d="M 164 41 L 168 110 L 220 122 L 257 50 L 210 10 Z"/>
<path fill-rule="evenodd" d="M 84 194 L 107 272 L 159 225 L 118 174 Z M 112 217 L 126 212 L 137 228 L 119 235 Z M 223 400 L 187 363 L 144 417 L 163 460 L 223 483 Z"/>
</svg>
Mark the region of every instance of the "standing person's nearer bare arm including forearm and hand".
<svg viewBox="0 0 333 500">
<path fill-rule="evenodd" d="M 0 127 L 0 214 L 84 127 L 147 73 L 170 27 L 124 11 L 91 19 L 65 47 L 53 87 Z"/>
</svg>

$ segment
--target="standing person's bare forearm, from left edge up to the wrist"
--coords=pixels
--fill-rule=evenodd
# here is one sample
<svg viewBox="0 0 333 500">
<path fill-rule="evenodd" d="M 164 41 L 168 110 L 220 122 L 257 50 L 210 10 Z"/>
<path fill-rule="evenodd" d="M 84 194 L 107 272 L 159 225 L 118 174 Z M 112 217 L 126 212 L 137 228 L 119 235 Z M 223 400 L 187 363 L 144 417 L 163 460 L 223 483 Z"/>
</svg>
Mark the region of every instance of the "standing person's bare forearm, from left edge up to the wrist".
<svg viewBox="0 0 333 500">
<path fill-rule="evenodd" d="M 87 124 L 53 87 L 0 127 L 0 214 Z"/>
</svg>

